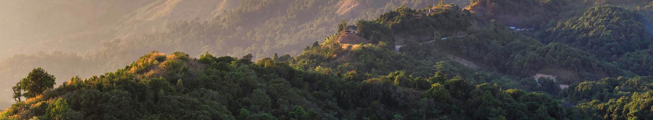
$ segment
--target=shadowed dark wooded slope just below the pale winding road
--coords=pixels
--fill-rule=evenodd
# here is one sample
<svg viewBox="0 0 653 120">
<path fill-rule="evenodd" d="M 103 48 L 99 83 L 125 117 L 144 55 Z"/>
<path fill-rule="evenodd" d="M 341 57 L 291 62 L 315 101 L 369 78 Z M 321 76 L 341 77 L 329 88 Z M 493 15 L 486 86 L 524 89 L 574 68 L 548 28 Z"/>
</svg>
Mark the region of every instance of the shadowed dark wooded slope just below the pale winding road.
<svg viewBox="0 0 653 120">
<path fill-rule="evenodd" d="M 537 40 L 521 36 L 502 25 L 492 23 L 473 36 L 453 38 L 436 42 L 438 48 L 487 64 L 491 69 L 512 75 L 534 75 L 542 70 L 554 69 L 568 76 L 564 82 L 577 82 L 603 77 L 628 76 L 624 71 L 609 62 L 594 58 L 594 54 L 569 47 L 563 43 L 539 43 Z M 494 66 L 492 66 L 494 65 Z M 571 71 L 571 72 L 569 72 Z M 565 78 L 559 78 L 565 79 Z"/>
</svg>

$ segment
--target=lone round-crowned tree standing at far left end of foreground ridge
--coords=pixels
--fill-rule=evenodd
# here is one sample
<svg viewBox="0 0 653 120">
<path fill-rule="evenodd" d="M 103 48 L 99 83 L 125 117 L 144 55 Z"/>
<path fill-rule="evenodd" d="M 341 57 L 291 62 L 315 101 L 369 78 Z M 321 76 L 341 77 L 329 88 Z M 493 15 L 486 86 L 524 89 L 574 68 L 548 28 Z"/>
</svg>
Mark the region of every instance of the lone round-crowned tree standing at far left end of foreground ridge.
<svg viewBox="0 0 653 120">
<path fill-rule="evenodd" d="M 20 89 L 25 91 L 23 93 L 25 98 L 36 97 L 44 91 L 54 88 L 55 79 L 54 75 L 50 75 L 47 71 L 38 67 L 29 72 L 27 77 L 20 80 Z"/>
</svg>

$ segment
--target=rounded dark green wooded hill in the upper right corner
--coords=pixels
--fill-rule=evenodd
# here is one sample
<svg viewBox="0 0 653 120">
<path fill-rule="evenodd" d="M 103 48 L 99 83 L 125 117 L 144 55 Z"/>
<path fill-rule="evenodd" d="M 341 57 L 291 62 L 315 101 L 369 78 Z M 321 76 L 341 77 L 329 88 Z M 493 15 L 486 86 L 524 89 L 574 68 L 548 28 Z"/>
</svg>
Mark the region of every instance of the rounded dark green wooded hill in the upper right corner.
<svg viewBox="0 0 653 120">
<path fill-rule="evenodd" d="M 540 34 L 544 43 L 569 43 L 599 57 L 622 55 L 647 49 L 653 37 L 647 34 L 645 16 L 618 6 L 603 5 L 588 8 L 579 18 Z M 644 22 L 644 23 L 643 23 Z"/>
</svg>

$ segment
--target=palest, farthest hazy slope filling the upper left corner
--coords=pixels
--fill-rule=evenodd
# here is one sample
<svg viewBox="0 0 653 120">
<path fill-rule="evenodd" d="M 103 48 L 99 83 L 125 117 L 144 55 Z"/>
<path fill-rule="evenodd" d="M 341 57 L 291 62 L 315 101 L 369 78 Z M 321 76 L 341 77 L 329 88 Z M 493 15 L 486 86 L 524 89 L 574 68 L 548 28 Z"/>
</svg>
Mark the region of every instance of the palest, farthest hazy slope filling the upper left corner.
<svg viewBox="0 0 653 120">
<path fill-rule="evenodd" d="M 0 58 L 37 51 L 84 54 L 114 38 L 164 30 L 165 24 L 213 18 L 238 1 L 2 1 Z"/>
</svg>

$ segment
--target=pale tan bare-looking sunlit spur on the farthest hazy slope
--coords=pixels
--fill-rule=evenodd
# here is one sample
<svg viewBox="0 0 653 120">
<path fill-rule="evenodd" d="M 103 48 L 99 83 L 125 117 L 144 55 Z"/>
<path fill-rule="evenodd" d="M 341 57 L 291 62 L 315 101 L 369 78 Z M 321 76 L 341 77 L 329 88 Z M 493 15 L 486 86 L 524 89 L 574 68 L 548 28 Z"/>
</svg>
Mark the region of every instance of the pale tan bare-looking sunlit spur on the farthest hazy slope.
<svg viewBox="0 0 653 120">
<path fill-rule="evenodd" d="M 156 1 L 142 6 L 130 13 L 117 28 L 125 27 L 127 30 L 118 30 L 118 36 L 128 38 L 166 30 L 165 25 L 173 21 L 188 19 L 210 19 L 221 12 L 231 10 L 238 6 L 237 0 L 201 1 L 201 0 L 168 0 Z"/>
</svg>

